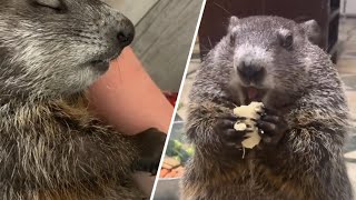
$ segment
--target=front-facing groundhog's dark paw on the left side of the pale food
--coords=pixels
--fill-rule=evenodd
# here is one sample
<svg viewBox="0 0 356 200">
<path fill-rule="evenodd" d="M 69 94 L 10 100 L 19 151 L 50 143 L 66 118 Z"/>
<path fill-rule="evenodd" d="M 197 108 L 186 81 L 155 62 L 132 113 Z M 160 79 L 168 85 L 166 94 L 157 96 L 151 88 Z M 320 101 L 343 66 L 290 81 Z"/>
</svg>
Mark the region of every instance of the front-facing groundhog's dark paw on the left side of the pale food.
<svg viewBox="0 0 356 200">
<path fill-rule="evenodd" d="M 241 149 L 241 142 L 246 139 L 246 134 L 249 132 L 248 129 L 237 131 L 234 129 L 234 124 L 237 121 L 243 121 L 245 118 L 236 117 L 235 114 L 224 114 L 217 119 L 215 126 L 215 132 L 219 134 L 222 146 L 226 149 L 236 150 Z"/>
</svg>

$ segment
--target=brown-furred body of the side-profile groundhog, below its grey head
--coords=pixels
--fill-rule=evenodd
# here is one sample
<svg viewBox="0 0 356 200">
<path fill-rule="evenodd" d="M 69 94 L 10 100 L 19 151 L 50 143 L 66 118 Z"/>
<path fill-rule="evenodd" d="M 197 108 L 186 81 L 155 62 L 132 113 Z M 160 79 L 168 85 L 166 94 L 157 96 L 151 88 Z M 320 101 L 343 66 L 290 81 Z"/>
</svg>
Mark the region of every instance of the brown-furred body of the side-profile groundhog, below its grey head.
<svg viewBox="0 0 356 200">
<path fill-rule="evenodd" d="M 1 128 L 8 132 L 1 136 L 8 147 L 2 153 L 9 158 L 2 163 L 8 180 L 0 190 L 2 199 L 140 197 L 130 187 L 134 143 L 90 114 L 87 106 L 78 96 L 16 106 L 2 118 Z"/>
</svg>

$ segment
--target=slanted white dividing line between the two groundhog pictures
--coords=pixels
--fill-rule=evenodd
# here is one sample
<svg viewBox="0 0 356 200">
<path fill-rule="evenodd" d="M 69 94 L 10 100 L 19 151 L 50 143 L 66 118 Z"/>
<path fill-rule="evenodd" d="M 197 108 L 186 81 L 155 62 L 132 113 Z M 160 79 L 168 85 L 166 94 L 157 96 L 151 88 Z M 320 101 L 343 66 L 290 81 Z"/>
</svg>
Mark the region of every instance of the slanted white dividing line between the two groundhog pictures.
<svg viewBox="0 0 356 200">
<path fill-rule="evenodd" d="M 182 79 L 181 79 L 181 83 L 180 83 L 180 88 L 179 88 L 179 92 L 178 92 L 178 97 L 177 97 L 177 101 L 176 101 L 176 107 L 175 107 L 174 113 L 171 116 L 170 126 L 169 126 L 169 130 L 168 130 L 168 133 L 167 133 L 167 140 L 166 140 L 166 143 L 165 143 L 165 148 L 164 148 L 164 151 L 162 151 L 162 154 L 161 154 L 160 162 L 159 162 L 159 167 L 158 167 L 158 171 L 157 171 L 157 174 L 156 174 L 156 180 L 155 180 L 155 184 L 154 184 L 154 188 L 152 188 L 152 191 L 151 191 L 150 200 L 154 200 L 154 196 L 155 196 L 155 192 L 156 192 L 157 182 L 158 182 L 158 179 L 159 179 L 159 173 L 160 173 L 160 170 L 161 170 L 161 167 L 162 167 L 162 163 L 164 163 L 164 157 L 166 154 L 169 137 L 170 137 L 170 133 L 171 133 L 171 128 L 174 126 L 175 118 L 176 118 L 176 114 L 177 114 L 178 104 L 179 104 L 180 97 L 181 97 L 181 91 L 182 91 L 182 88 L 185 86 L 185 81 L 186 81 L 186 78 L 187 78 L 188 67 L 189 67 L 191 54 L 192 54 L 192 50 L 194 50 L 194 47 L 195 47 L 195 43 L 196 43 L 196 40 L 197 40 L 198 30 L 199 30 L 199 27 L 200 27 L 200 21 L 201 21 L 201 17 L 202 17 L 202 13 L 204 13 L 204 9 L 205 9 L 206 2 L 207 2 L 207 0 L 202 0 L 202 4 L 201 4 L 201 8 L 200 8 L 200 13 L 199 13 L 199 18 L 198 18 L 198 22 L 197 22 L 197 27 L 196 27 L 196 31 L 195 31 L 194 37 L 192 37 L 192 43 L 190 46 L 190 51 L 189 51 L 189 54 L 188 54 L 188 58 L 187 58 L 186 69 L 185 69 L 185 72 L 184 72 L 184 76 L 182 76 Z"/>
</svg>

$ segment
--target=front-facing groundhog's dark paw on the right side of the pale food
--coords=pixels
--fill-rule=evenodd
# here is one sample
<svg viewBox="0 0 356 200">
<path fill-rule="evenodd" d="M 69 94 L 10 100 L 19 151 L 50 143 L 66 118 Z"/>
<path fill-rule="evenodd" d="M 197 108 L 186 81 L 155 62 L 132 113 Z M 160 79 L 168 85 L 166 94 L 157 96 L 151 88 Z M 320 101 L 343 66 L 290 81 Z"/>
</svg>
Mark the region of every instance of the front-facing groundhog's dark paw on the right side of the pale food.
<svg viewBox="0 0 356 200">
<path fill-rule="evenodd" d="M 265 113 L 257 121 L 257 127 L 265 144 L 277 144 L 288 129 L 284 118 L 271 109 L 265 109 Z"/>
</svg>

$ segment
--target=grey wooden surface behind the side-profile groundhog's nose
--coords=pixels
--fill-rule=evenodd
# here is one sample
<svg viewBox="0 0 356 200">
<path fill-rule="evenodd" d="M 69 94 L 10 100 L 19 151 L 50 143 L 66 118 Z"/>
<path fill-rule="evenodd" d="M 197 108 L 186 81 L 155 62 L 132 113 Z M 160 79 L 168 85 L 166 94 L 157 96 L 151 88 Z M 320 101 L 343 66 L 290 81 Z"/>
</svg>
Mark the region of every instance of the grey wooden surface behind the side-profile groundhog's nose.
<svg viewBox="0 0 356 200">
<path fill-rule="evenodd" d="M 154 81 L 178 91 L 204 0 L 105 0 L 136 24 L 132 47 Z"/>
</svg>

